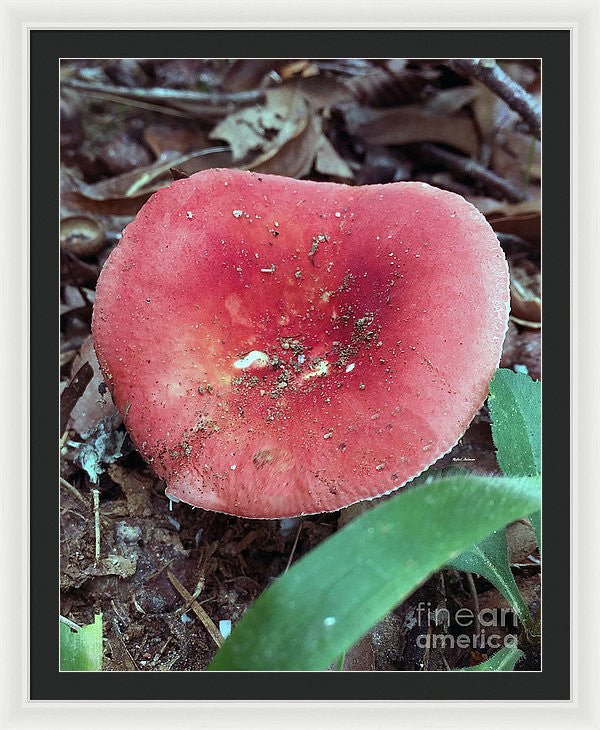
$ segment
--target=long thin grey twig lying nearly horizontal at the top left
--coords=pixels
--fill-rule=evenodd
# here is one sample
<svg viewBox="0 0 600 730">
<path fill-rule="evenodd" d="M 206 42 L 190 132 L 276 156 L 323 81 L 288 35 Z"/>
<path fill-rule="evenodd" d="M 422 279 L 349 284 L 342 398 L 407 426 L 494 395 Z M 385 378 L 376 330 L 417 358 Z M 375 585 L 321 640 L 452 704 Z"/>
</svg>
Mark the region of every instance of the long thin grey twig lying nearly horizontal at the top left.
<svg viewBox="0 0 600 730">
<path fill-rule="evenodd" d="M 67 89 L 75 89 L 76 91 L 111 94 L 112 96 L 122 96 L 139 101 L 162 102 L 166 104 L 204 104 L 207 107 L 257 104 L 265 98 L 265 92 L 262 89 L 235 92 L 191 91 L 188 89 L 162 89 L 156 87 L 138 89 L 128 86 L 90 83 L 78 79 L 68 79 L 63 81 L 62 85 Z"/>
</svg>

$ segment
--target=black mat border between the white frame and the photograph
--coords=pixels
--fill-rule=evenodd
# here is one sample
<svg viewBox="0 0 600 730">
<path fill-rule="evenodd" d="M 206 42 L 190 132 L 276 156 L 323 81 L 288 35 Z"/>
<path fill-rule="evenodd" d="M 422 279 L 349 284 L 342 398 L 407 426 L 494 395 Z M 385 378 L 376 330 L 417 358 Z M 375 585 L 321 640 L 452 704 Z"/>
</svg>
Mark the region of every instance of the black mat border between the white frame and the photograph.
<svg viewBox="0 0 600 730">
<path fill-rule="evenodd" d="M 30 33 L 32 700 L 560 700 L 570 696 L 570 32 Z M 496 57 L 543 60 L 544 571 L 538 673 L 58 671 L 58 61 L 61 57 Z M 13 112 L 14 113 L 14 112 Z M 8 245 L 8 243 L 7 243 Z M 54 272 L 54 273 L 52 273 Z M 266 680 L 266 681 L 265 681 Z"/>
</svg>

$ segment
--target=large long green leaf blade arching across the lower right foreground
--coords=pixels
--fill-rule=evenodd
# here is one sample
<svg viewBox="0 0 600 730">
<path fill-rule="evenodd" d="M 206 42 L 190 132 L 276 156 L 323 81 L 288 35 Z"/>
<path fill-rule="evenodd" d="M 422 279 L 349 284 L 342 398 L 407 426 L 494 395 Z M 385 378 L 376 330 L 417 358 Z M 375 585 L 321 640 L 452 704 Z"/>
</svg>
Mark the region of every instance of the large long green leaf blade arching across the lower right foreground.
<svg viewBox="0 0 600 730">
<path fill-rule="evenodd" d="M 278 578 L 208 669 L 325 669 L 429 575 L 537 509 L 539 488 L 465 474 L 404 489 Z"/>
</svg>

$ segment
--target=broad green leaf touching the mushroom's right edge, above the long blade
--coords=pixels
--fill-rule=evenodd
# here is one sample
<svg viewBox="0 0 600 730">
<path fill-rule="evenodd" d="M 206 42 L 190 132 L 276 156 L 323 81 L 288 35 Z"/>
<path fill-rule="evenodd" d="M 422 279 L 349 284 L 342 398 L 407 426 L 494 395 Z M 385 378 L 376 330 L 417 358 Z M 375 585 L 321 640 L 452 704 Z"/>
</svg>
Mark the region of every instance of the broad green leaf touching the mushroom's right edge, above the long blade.
<svg viewBox="0 0 600 730">
<path fill-rule="evenodd" d="M 498 464 L 507 476 L 541 472 L 541 383 L 500 368 L 490 383 L 488 406 Z"/>
</svg>

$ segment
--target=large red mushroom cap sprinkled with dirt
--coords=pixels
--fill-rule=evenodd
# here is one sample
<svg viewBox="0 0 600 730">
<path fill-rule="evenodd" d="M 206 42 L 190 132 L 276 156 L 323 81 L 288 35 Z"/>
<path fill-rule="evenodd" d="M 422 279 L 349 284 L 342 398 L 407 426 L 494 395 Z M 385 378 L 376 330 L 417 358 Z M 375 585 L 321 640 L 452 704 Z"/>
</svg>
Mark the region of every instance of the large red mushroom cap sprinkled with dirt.
<svg viewBox="0 0 600 730">
<path fill-rule="evenodd" d="M 155 193 L 98 280 L 98 359 L 169 496 L 340 509 L 447 453 L 508 323 L 485 218 L 424 183 L 206 170 Z"/>
</svg>

